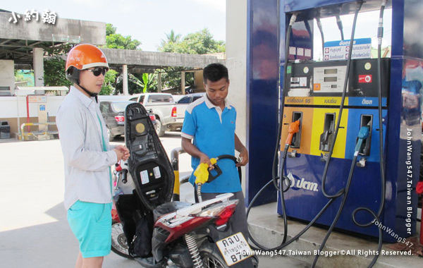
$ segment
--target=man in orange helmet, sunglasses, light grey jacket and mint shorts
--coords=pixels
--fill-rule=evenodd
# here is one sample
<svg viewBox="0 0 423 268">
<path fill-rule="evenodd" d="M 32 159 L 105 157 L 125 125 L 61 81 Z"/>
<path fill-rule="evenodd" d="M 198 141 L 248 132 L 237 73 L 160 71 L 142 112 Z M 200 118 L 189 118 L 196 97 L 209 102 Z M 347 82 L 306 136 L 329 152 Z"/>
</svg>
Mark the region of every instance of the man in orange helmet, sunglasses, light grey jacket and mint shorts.
<svg viewBox="0 0 423 268">
<path fill-rule="evenodd" d="M 129 157 L 125 146 L 109 145 L 97 102 L 108 69 L 97 47 L 73 47 L 66 78 L 74 84 L 56 116 L 65 169 L 64 205 L 80 248 L 75 267 L 102 267 L 111 250 L 110 166 Z"/>
</svg>

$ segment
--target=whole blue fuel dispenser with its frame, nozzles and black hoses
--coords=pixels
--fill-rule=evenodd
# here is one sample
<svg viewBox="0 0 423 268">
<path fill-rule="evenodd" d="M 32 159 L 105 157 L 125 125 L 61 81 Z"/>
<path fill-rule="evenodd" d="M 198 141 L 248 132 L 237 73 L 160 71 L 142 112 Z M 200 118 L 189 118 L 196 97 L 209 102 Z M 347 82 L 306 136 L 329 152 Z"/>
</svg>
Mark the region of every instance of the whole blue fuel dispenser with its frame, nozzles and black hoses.
<svg viewBox="0 0 423 268">
<path fill-rule="evenodd" d="M 329 231 L 320 249 L 337 228 L 379 237 L 380 252 L 382 240 L 399 242 L 416 231 L 423 82 L 423 71 L 418 71 L 423 70 L 423 50 L 417 48 L 423 49 L 423 42 L 406 29 L 412 21 L 422 20 L 418 14 L 423 3 L 285 0 L 280 4 L 285 53 L 281 53 L 279 152 L 274 157 L 278 169 L 274 169 L 273 182 L 285 231 L 276 248 L 292 243 L 312 224 L 321 224 L 329 226 Z M 381 56 L 385 8 L 393 9 L 391 58 Z M 375 10 L 380 10 L 379 27 L 374 29 L 378 58 L 352 59 L 358 43 L 357 15 Z M 340 41 L 348 44 L 345 59 L 312 61 L 312 54 L 321 47 L 313 47 L 312 38 L 307 44 L 298 29 L 312 36 L 310 21 L 317 20 L 323 40 L 320 19 L 333 17 L 343 39 L 339 16 L 347 13 L 355 16 L 350 39 Z M 298 125 L 295 131 L 293 124 Z M 268 185 L 271 181 L 258 195 Z M 256 200 L 257 195 L 247 213 Z M 289 241 L 287 217 L 309 223 Z"/>
</svg>

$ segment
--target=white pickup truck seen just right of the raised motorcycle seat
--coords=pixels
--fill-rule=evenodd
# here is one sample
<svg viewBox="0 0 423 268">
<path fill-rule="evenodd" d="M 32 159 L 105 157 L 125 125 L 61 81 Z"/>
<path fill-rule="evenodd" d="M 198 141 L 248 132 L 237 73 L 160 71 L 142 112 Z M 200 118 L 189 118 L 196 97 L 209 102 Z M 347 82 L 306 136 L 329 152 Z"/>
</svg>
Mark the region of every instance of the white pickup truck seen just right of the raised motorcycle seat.
<svg viewBox="0 0 423 268">
<path fill-rule="evenodd" d="M 168 93 L 143 93 L 132 95 L 129 99 L 140 102 L 145 109 L 152 110 L 157 120 L 157 133 L 159 137 L 164 135 L 165 130 L 177 130 L 182 128 L 183 118 L 178 119 L 175 102 Z"/>
</svg>

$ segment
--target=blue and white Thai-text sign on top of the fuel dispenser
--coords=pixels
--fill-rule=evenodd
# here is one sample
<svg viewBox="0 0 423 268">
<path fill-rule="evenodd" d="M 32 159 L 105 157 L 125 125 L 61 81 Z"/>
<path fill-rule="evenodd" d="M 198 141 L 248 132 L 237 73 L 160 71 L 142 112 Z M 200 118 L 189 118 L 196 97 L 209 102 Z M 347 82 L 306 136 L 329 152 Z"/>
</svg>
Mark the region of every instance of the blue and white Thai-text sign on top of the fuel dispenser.
<svg viewBox="0 0 423 268">
<path fill-rule="evenodd" d="M 324 43 L 324 61 L 348 59 L 350 40 L 331 41 Z M 370 58 L 372 56 L 372 39 L 354 39 L 352 59 Z"/>
</svg>

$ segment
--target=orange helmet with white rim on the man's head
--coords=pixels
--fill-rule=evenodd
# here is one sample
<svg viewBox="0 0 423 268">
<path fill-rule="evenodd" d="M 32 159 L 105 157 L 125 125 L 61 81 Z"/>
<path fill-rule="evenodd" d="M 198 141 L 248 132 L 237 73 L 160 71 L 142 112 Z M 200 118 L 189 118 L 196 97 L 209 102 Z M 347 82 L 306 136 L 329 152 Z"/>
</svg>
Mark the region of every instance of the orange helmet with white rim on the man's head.
<svg viewBox="0 0 423 268">
<path fill-rule="evenodd" d="M 103 51 L 92 44 L 78 44 L 68 53 L 66 59 L 66 78 L 79 84 L 79 71 L 92 67 L 106 67 L 109 69 Z"/>
</svg>

